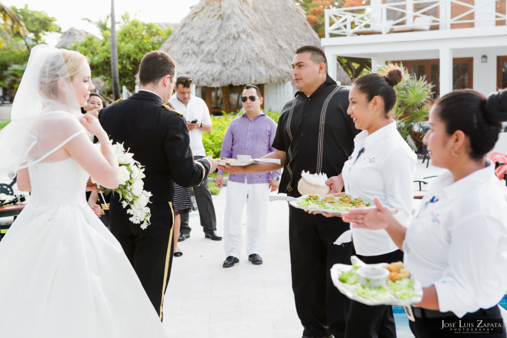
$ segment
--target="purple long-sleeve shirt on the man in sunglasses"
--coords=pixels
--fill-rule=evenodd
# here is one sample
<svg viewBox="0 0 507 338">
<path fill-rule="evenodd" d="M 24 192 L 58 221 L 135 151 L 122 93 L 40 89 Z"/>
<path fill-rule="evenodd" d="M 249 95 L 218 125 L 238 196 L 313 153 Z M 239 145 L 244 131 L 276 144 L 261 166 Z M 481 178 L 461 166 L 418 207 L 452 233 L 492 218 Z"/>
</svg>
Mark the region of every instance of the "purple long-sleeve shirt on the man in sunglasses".
<svg viewBox="0 0 507 338">
<path fill-rule="evenodd" d="M 264 112 L 250 121 L 246 114 L 232 120 L 222 141 L 220 157 L 235 159 L 236 155 L 250 155 L 252 159 L 260 159 L 264 155 L 272 153 L 275 148 L 271 146 L 276 134 L 276 122 Z M 224 172 L 219 170 L 219 175 Z M 273 172 L 253 174 L 231 174 L 229 180 L 232 182 L 245 182 L 247 184 L 269 183 L 271 178 L 279 177 L 280 170 Z"/>
</svg>

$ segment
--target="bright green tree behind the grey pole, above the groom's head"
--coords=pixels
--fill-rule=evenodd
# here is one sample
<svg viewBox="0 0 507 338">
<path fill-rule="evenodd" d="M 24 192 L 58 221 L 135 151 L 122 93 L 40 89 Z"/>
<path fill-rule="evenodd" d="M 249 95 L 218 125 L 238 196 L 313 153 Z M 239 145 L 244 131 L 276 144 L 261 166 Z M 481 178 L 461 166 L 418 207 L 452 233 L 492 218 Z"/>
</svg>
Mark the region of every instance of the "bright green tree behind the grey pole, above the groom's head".
<svg viewBox="0 0 507 338">
<path fill-rule="evenodd" d="M 108 20 L 100 19 L 95 22 L 100 29 L 102 39 L 88 35 L 81 43 L 70 48 L 75 49 L 90 59 L 92 77 L 101 77 L 107 84 L 107 93 L 111 93 L 111 31 L 105 24 Z M 172 28 L 162 29 L 155 23 L 144 23 L 130 18 L 128 13 L 122 15 L 118 22 L 118 69 L 120 84 L 133 91 L 135 74 L 139 69 L 139 62 L 144 54 L 159 49 L 160 45 L 171 34 Z"/>
</svg>

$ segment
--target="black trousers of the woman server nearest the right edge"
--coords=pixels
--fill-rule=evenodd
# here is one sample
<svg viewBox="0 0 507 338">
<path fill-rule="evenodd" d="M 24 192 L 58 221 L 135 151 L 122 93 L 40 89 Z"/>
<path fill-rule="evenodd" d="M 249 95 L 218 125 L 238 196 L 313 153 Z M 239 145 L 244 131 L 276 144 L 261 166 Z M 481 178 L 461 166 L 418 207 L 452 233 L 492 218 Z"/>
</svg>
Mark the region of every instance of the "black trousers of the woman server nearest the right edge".
<svg viewBox="0 0 507 338">
<path fill-rule="evenodd" d="M 437 311 L 433 312 L 437 313 Z M 495 319 L 500 323 L 501 329 L 498 327 L 486 327 L 491 323 L 490 320 Z M 462 318 L 454 315 L 450 317 L 427 318 L 423 315 L 422 317 L 416 317 L 415 322 L 409 321 L 409 324 L 416 338 L 461 336 L 505 338 L 505 327 L 503 327 L 502 316 L 498 306 L 467 313 Z M 486 329 L 483 329 L 484 327 Z"/>
</svg>

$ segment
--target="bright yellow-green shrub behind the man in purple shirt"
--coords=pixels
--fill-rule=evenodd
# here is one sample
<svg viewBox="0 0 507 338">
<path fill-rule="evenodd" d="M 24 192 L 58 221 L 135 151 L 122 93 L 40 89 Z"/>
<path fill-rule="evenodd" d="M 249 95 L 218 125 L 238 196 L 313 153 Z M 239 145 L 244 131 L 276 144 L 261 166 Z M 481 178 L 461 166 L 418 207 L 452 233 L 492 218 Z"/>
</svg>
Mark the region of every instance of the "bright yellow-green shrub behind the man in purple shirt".
<svg viewBox="0 0 507 338">
<path fill-rule="evenodd" d="M 266 115 L 278 123 L 280 113 L 278 111 L 268 110 Z M 211 133 L 202 134 L 202 144 L 206 155 L 211 155 L 214 159 L 220 157 L 220 150 L 222 149 L 222 140 L 224 139 L 227 127 L 232 120 L 240 115 L 225 114 L 222 116 L 212 116 L 211 122 L 213 123 L 213 130 Z"/>
</svg>

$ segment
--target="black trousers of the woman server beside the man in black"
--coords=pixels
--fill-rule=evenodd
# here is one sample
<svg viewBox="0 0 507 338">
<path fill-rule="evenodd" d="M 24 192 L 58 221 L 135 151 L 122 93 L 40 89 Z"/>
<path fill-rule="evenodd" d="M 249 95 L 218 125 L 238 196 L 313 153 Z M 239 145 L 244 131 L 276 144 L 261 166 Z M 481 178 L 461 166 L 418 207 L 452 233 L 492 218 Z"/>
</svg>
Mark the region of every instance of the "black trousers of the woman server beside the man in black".
<svg viewBox="0 0 507 338">
<path fill-rule="evenodd" d="M 396 250 L 378 256 L 362 256 L 357 258 L 366 264 L 391 263 L 403 261 L 403 251 Z M 392 306 L 368 306 L 350 301 L 350 309 L 345 329 L 346 338 L 395 338 L 396 325 L 392 314 Z"/>
</svg>

